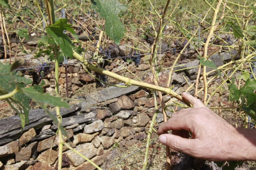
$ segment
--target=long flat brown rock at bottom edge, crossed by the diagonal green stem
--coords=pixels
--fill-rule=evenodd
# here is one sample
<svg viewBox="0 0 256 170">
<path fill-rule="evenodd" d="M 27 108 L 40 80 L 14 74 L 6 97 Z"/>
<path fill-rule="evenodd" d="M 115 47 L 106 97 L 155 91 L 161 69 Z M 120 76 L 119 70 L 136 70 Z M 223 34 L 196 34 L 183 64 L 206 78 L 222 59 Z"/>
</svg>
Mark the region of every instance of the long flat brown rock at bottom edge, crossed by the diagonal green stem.
<svg viewBox="0 0 256 170">
<path fill-rule="evenodd" d="M 102 155 L 95 156 L 94 158 L 91 159 L 91 161 L 99 166 L 106 160 L 106 157 L 109 155 L 109 153 L 110 153 L 110 149 L 107 151 L 104 151 Z M 96 167 L 93 166 L 90 162 L 86 161 L 72 170 L 85 170 L 85 169 L 94 170 L 96 169 Z"/>
</svg>

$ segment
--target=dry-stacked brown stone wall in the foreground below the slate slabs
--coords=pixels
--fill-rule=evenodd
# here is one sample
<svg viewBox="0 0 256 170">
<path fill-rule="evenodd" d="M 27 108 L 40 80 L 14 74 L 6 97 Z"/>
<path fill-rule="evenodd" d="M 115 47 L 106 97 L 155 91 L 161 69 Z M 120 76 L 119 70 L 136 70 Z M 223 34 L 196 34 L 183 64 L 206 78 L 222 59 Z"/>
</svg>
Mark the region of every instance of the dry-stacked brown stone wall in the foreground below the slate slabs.
<svg viewBox="0 0 256 170">
<path fill-rule="evenodd" d="M 63 136 L 63 140 L 93 160 L 95 164 L 100 165 L 116 143 L 119 143 L 120 147 L 131 147 L 134 143 L 146 139 L 155 110 L 154 99 L 144 90 L 137 90 L 133 94 L 122 95 L 97 105 L 98 107 L 94 109 L 63 117 L 62 126 L 68 135 Z M 159 113 L 154 127 L 157 128 L 161 122 L 163 116 Z M 0 166 L 12 170 L 56 168 L 58 160 L 56 131 L 57 126 L 54 124 L 45 125 L 38 130 L 31 128 L 18 140 L 1 146 Z M 152 137 L 155 136 L 156 134 L 153 133 Z M 51 145 L 52 150 L 50 150 Z M 63 147 L 62 167 L 94 169 L 90 163 L 66 146 Z"/>
</svg>

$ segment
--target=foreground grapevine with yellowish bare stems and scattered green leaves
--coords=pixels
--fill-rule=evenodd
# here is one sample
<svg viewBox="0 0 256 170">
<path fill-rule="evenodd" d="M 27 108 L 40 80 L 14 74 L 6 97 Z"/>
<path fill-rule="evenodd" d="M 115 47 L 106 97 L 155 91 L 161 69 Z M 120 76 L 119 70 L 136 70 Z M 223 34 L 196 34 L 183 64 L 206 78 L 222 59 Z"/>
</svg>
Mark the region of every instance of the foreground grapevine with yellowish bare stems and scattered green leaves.
<svg viewBox="0 0 256 170">
<path fill-rule="evenodd" d="M 54 11 L 54 1 L 53 0 L 45 0 L 45 7 L 48 15 L 49 22 L 46 21 L 46 18 L 43 15 L 43 12 L 41 11 L 38 2 L 36 0 L 35 4 L 39 7 L 38 10 L 40 11 L 40 14 L 42 15 L 42 18 L 44 18 L 46 27 L 41 30 L 45 31 L 47 33 L 47 49 L 45 50 L 39 50 L 36 56 L 42 55 L 42 53 L 46 54 L 47 56 L 50 56 L 50 59 L 55 61 L 55 94 L 48 94 L 44 93 L 44 90 L 42 86 L 44 85 L 44 81 L 40 85 L 33 85 L 30 79 L 27 79 L 24 77 L 24 75 L 20 72 L 13 71 L 14 69 L 18 68 L 24 63 L 24 60 L 18 60 L 14 62 L 12 65 L 9 65 L 7 63 L 0 63 L 0 99 L 5 99 L 10 106 L 16 111 L 16 113 L 19 114 L 22 127 L 24 127 L 28 122 L 28 112 L 30 110 L 29 107 L 29 101 L 30 99 L 33 99 L 41 108 L 45 110 L 45 112 L 51 117 L 51 119 L 55 122 L 55 124 L 58 125 L 58 135 L 59 135 L 59 159 L 58 159 L 58 169 L 61 169 L 61 163 L 62 163 L 62 148 L 63 145 L 67 146 L 67 148 L 73 150 L 80 156 L 82 156 L 84 159 L 92 163 L 95 167 L 98 169 L 101 169 L 99 166 L 91 162 L 89 159 L 87 159 L 85 156 L 83 156 L 81 153 L 77 152 L 75 149 L 70 147 L 65 141 L 63 141 L 62 136 L 66 135 L 66 132 L 64 128 L 61 126 L 61 120 L 62 117 L 60 115 L 60 107 L 69 108 L 69 105 L 67 102 L 65 102 L 61 97 L 59 97 L 59 88 L 58 88 L 58 73 L 59 73 L 59 63 L 63 61 L 63 56 L 70 58 L 70 59 L 77 59 L 78 61 L 87 61 L 84 56 L 81 56 L 79 53 L 77 53 L 77 49 L 89 49 L 91 58 L 90 60 L 97 60 L 96 62 L 90 63 L 90 62 L 84 62 L 83 65 L 86 67 L 86 72 L 88 72 L 90 75 L 92 75 L 89 71 L 94 71 L 101 73 L 103 75 L 106 75 L 108 77 L 112 77 L 113 79 L 116 79 L 118 81 L 124 82 L 124 86 L 118 86 L 118 85 L 112 85 L 109 83 L 102 82 L 106 85 L 112 85 L 112 86 L 118 86 L 120 88 L 126 88 L 131 85 L 136 85 L 148 89 L 153 90 L 153 95 L 155 99 L 155 113 L 152 117 L 152 122 L 150 125 L 150 130 L 148 131 L 148 138 L 147 138 L 147 147 L 146 147 L 146 153 L 145 153 L 145 159 L 143 164 L 143 169 L 147 168 L 147 158 L 148 158 L 148 149 L 149 149 L 149 143 L 151 138 L 151 133 L 156 131 L 154 129 L 155 119 L 157 113 L 162 113 L 164 117 L 164 122 L 167 121 L 167 110 L 169 110 L 169 107 L 172 106 L 172 112 L 177 111 L 177 107 L 175 106 L 181 106 L 181 107 L 191 107 L 189 103 L 187 103 L 182 96 L 177 94 L 175 91 L 173 91 L 173 86 L 171 85 L 172 80 L 172 73 L 176 72 L 177 70 L 174 70 L 180 59 L 182 57 L 182 54 L 184 51 L 190 46 L 194 47 L 196 52 L 198 53 L 198 59 L 199 59 L 199 65 L 198 68 L 198 74 L 196 81 L 193 84 L 190 84 L 187 80 L 187 83 L 189 87 L 185 90 L 186 92 L 190 91 L 191 89 L 194 89 L 194 95 L 195 97 L 198 97 L 198 95 L 201 92 L 204 92 L 203 95 L 203 102 L 207 106 L 207 104 L 211 101 L 211 99 L 217 95 L 221 95 L 226 87 L 228 87 L 229 91 L 229 100 L 233 101 L 232 107 L 215 107 L 212 109 L 237 109 L 240 113 L 248 114 L 254 121 L 256 120 L 255 112 L 256 112 L 256 78 L 255 73 L 253 72 L 252 65 L 253 61 L 255 61 L 254 57 L 256 55 L 255 53 L 255 38 L 256 38 L 256 27 L 255 23 L 249 23 L 249 20 L 255 19 L 256 15 L 256 3 L 240 5 L 236 3 L 231 3 L 228 1 L 222 1 L 222 0 L 214 0 L 213 2 L 209 3 L 207 1 L 207 7 L 208 10 L 206 11 L 204 17 L 197 17 L 197 19 L 200 20 L 200 24 L 197 28 L 195 28 L 195 31 L 189 31 L 183 25 L 179 22 L 176 22 L 173 19 L 173 15 L 176 11 L 185 12 L 190 15 L 194 15 L 190 11 L 183 9 L 181 6 L 181 0 L 176 4 L 176 6 L 171 6 L 170 1 L 167 0 L 165 8 L 163 9 L 161 15 L 154 7 L 154 4 L 151 2 L 151 0 L 148 0 L 152 11 L 150 11 L 151 15 L 156 16 L 158 19 L 157 24 L 155 21 L 152 20 L 152 18 L 147 18 L 148 25 L 151 26 L 151 34 L 154 35 L 154 41 L 151 48 L 148 48 L 147 46 L 143 45 L 141 42 L 138 42 L 132 37 L 129 37 L 126 33 L 126 28 L 123 24 L 123 22 L 120 20 L 120 15 L 127 10 L 127 7 L 129 7 L 129 2 L 126 4 L 121 4 L 117 0 L 91 0 L 91 8 L 99 13 L 99 17 L 104 19 L 104 23 L 99 27 L 99 40 L 95 42 L 94 47 L 93 45 L 90 45 L 89 42 L 82 42 L 77 39 L 75 39 L 76 34 L 72 27 L 72 24 L 69 23 L 68 19 L 56 19 L 55 18 L 55 11 Z M 8 1 L 7 0 L 0 0 L 0 4 L 3 7 L 8 7 Z M 236 6 L 238 8 L 243 8 L 244 13 L 237 13 L 232 8 L 230 8 L 230 5 Z M 66 4 L 63 6 L 67 6 Z M 170 10 L 169 8 L 172 8 Z M 222 8 L 222 9 L 221 9 Z M 169 9 L 169 10 L 168 10 Z M 245 11 L 248 11 L 248 15 L 245 15 Z M 211 13 L 213 12 L 213 14 Z M 209 14 L 212 14 L 211 23 L 209 23 L 206 18 Z M 233 17 L 228 16 L 228 14 L 232 14 Z M 1 14 L 2 15 L 2 14 Z M 232 21 L 231 21 L 232 20 Z M 181 21 L 182 22 L 182 21 Z M 47 24 L 49 23 L 49 24 Z M 175 27 L 180 31 L 181 37 L 173 37 L 164 35 L 163 32 L 166 28 L 166 26 L 169 23 L 173 23 Z M 158 26 L 158 28 L 155 28 L 155 25 Z M 203 25 L 207 25 L 206 28 L 202 29 L 201 27 Z M 231 29 L 231 31 L 229 31 Z M 69 37 L 68 34 L 63 33 L 64 31 L 68 32 L 70 35 L 72 35 L 72 39 Z M 29 31 L 26 29 L 19 29 L 16 31 L 17 34 L 23 38 L 28 38 Z M 207 32 L 207 37 L 204 39 L 200 39 L 200 33 Z M 234 35 L 236 38 L 236 43 L 229 45 L 223 38 L 218 36 L 217 33 L 224 33 L 229 32 Z M 150 68 L 153 72 L 153 83 L 154 84 L 148 84 L 144 83 L 140 79 L 134 80 L 132 78 L 127 78 L 124 76 L 120 76 L 118 74 L 112 73 L 110 71 L 107 71 L 103 69 L 101 66 L 104 62 L 104 58 L 110 58 L 111 53 L 109 52 L 109 48 L 112 48 L 111 46 L 106 47 L 104 43 L 104 36 L 103 34 L 106 34 L 110 39 L 112 39 L 116 44 L 120 44 L 120 41 L 122 38 L 125 39 L 125 37 L 128 37 L 132 39 L 134 42 L 137 43 L 137 45 L 144 46 L 147 50 L 143 50 L 137 47 L 132 47 L 132 51 L 128 53 L 127 55 L 141 55 L 141 53 L 151 53 L 150 57 L 144 56 L 144 58 L 147 60 L 148 64 L 150 64 Z M 173 62 L 173 66 L 170 68 L 166 68 L 163 66 L 163 59 L 161 62 L 157 62 L 157 50 L 161 49 L 161 41 L 164 38 L 186 38 L 187 41 L 184 41 L 183 48 L 181 48 L 178 53 L 178 55 L 175 58 L 175 61 Z M 214 44 L 215 40 L 222 41 L 224 45 L 216 45 Z M 78 47 L 74 45 L 74 43 L 80 44 Z M 45 44 L 46 46 L 46 44 Z M 200 53 L 197 49 L 198 47 L 204 46 L 203 50 L 204 53 Z M 209 46 L 217 46 L 220 48 L 226 48 L 228 52 L 231 52 L 232 49 L 238 48 L 240 59 L 234 60 L 236 56 L 232 56 L 231 61 L 225 63 L 222 66 L 216 66 L 213 61 L 209 60 L 209 57 L 213 54 L 208 53 Z M 176 54 L 176 48 L 173 49 L 173 54 Z M 217 52 L 217 51 L 215 51 Z M 161 50 L 160 52 L 161 53 Z M 160 54 L 159 54 L 160 55 Z M 134 61 L 136 65 L 140 64 L 140 56 L 136 56 L 133 58 L 125 58 L 127 62 Z M 110 61 L 111 62 L 111 61 Z M 45 64 L 46 65 L 46 64 Z M 249 65 L 250 69 L 245 70 L 245 65 Z M 207 71 L 206 68 L 210 68 L 210 71 Z M 169 76 L 168 76 L 168 83 L 165 84 L 165 87 L 160 86 L 159 81 L 159 74 L 165 70 L 169 69 Z M 186 68 L 190 69 L 190 68 Z M 184 69 L 179 69 L 178 71 L 182 71 Z M 45 71 L 47 71 L 47 68 L 39 68 L 38 71 L 42 76 L 44 76 Z M 237 71 L 241 71 L 241 75 L 238 79 L 234 78 L 234 75 L 237 73 Z M 210 74 L 214 73 L 213 78 L 209 79 L 208 76 Z M 252 75 L 252 77 L 250 77 Z M 94 75 L 92 75 L 94 76 Z M 95 77 L 95 76 L 94 76 Z M 99 80 L 97 77 L 95 79 Z M 185 78 L 186 79 L 186 78 Z M 213 90 L 210 90 L 210 84 L 216 79 L 220 79 L 221 83 L 212 88 Z M 101 80 L 99 80 L 101 81 Z M 210 92 L 211 91 L 211 92 Z M 162 93 L 165 93 L 171 97 L 173 97 L 173 100 L 171 103 L 164 102 Z M 160 102 L 157 103 L 156 96 L 158 95 Z M 184 104 L 180 103 L 183 102 Z M 15 106 L 13 105 L 15 103 Z M 161 104 L 161 108 L 159 107 L 159 104 Z M 186 104 L 186 105 L 185 105 Z M 56 108 L 56 115 L 57 118 L 52 115 L 48 109 L 47 106 L 55 106 Z M 175 108 L 175 109 L 173 109 Z M 236 111 L 237 111 L 236 110 Z M 235 112 L 236 112 L 235 111 Z M 246 116 L 247 117 L 247 116 Z M 246 122 L 247 123 L 247 122 Z M 246 124 L 247 127 L 247 124 Z M 168 147 L 166 147 L 166 169 L 170 169 L 171 160 L 173 158 L 173 155 L 171 155 L 171 151 Z M 230 165 L 232 163 L 230 162 Z M 238 163 L 235 162 L 237 165 Z M 222 165 L 220 165 L 222 166 Z"/>
</svg>

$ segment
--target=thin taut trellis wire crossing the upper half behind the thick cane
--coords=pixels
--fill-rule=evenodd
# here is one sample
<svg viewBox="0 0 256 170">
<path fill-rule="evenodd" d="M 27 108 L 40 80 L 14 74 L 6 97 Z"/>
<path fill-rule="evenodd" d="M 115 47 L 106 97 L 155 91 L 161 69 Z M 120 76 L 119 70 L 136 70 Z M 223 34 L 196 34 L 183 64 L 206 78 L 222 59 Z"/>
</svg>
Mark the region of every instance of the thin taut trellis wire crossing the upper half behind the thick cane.
<svg viewBox="0 0 256 170">
<path fill-rule="evenodd" d="M 202 47 L 198 48 L 188 48 L 185 50 L 194 50 L 194 49 L 199 49 Z M 139 56 L 145 56 L 145 55 L 151 55 L 151 54 L 163 54 L 163 53 L 170 53 L 174 51 L 182 51 L 182 50 L 172 50 L 172 51 L 165 51 L 165 52 L 158 52 L 158 53 L 145 53 L 145 54 L 139 54 L 139 55 L 133 55 L 133 56 L 123 56 L 123 57 L 114 57 L 114 58 L 103 58 L 103 60 L 111 60 L 111 59 L 118 59 L 118 58 L 130 58 L 130 57 L 139 57 Z M 77 64 L 77 63 L 85 63 L 85 62 L 93 62 L 93 61 L 98 61 L 98 60 L 89 60 L 89 61 L 79 61 L 79 62 L 72 62 L 72 63 L 64 63 L 64 64 L 59 64 L 59 66 L 64 66 L 64 65 L 69 65 L 69 64 Z M 28 70 L 28 69 L 37 69 L 37 68 L 44 68 L 44 67 L 55 67 L 55 65 L 49 65 L 49 66 L 38 66 L 38 67 L 28 67 L 28 68 L 22 68 L 22 69 L 14 69 L 12 71 L 19 71 L 19 70 Z"/>
</svg>

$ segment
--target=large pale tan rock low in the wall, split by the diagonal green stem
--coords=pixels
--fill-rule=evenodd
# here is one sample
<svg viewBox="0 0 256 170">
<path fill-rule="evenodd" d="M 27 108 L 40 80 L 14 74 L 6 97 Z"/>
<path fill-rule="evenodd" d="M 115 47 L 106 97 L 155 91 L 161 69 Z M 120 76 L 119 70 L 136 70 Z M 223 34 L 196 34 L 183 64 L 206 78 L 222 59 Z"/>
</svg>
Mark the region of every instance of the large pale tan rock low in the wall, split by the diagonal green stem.
<svg viewBox="0 0 256 170">
<path fill-rule="evenodd" d="M 97 153 L 97 149 L 94 148 L 92 143 L 84 143 L 84 144 L 78 145 L 76 147 L 76 150 L 80 152 L 82 155 L 84 155 L 85 157 L 87 157 L 88 159 L 92 158 Z M 80 155 L 78 155 L 77 153 L 71 150 L 68 150 L 65 153 L 67 154 L 70 162 L 74 166 L 78 166 L 85 161 Z"/>
</svg>

